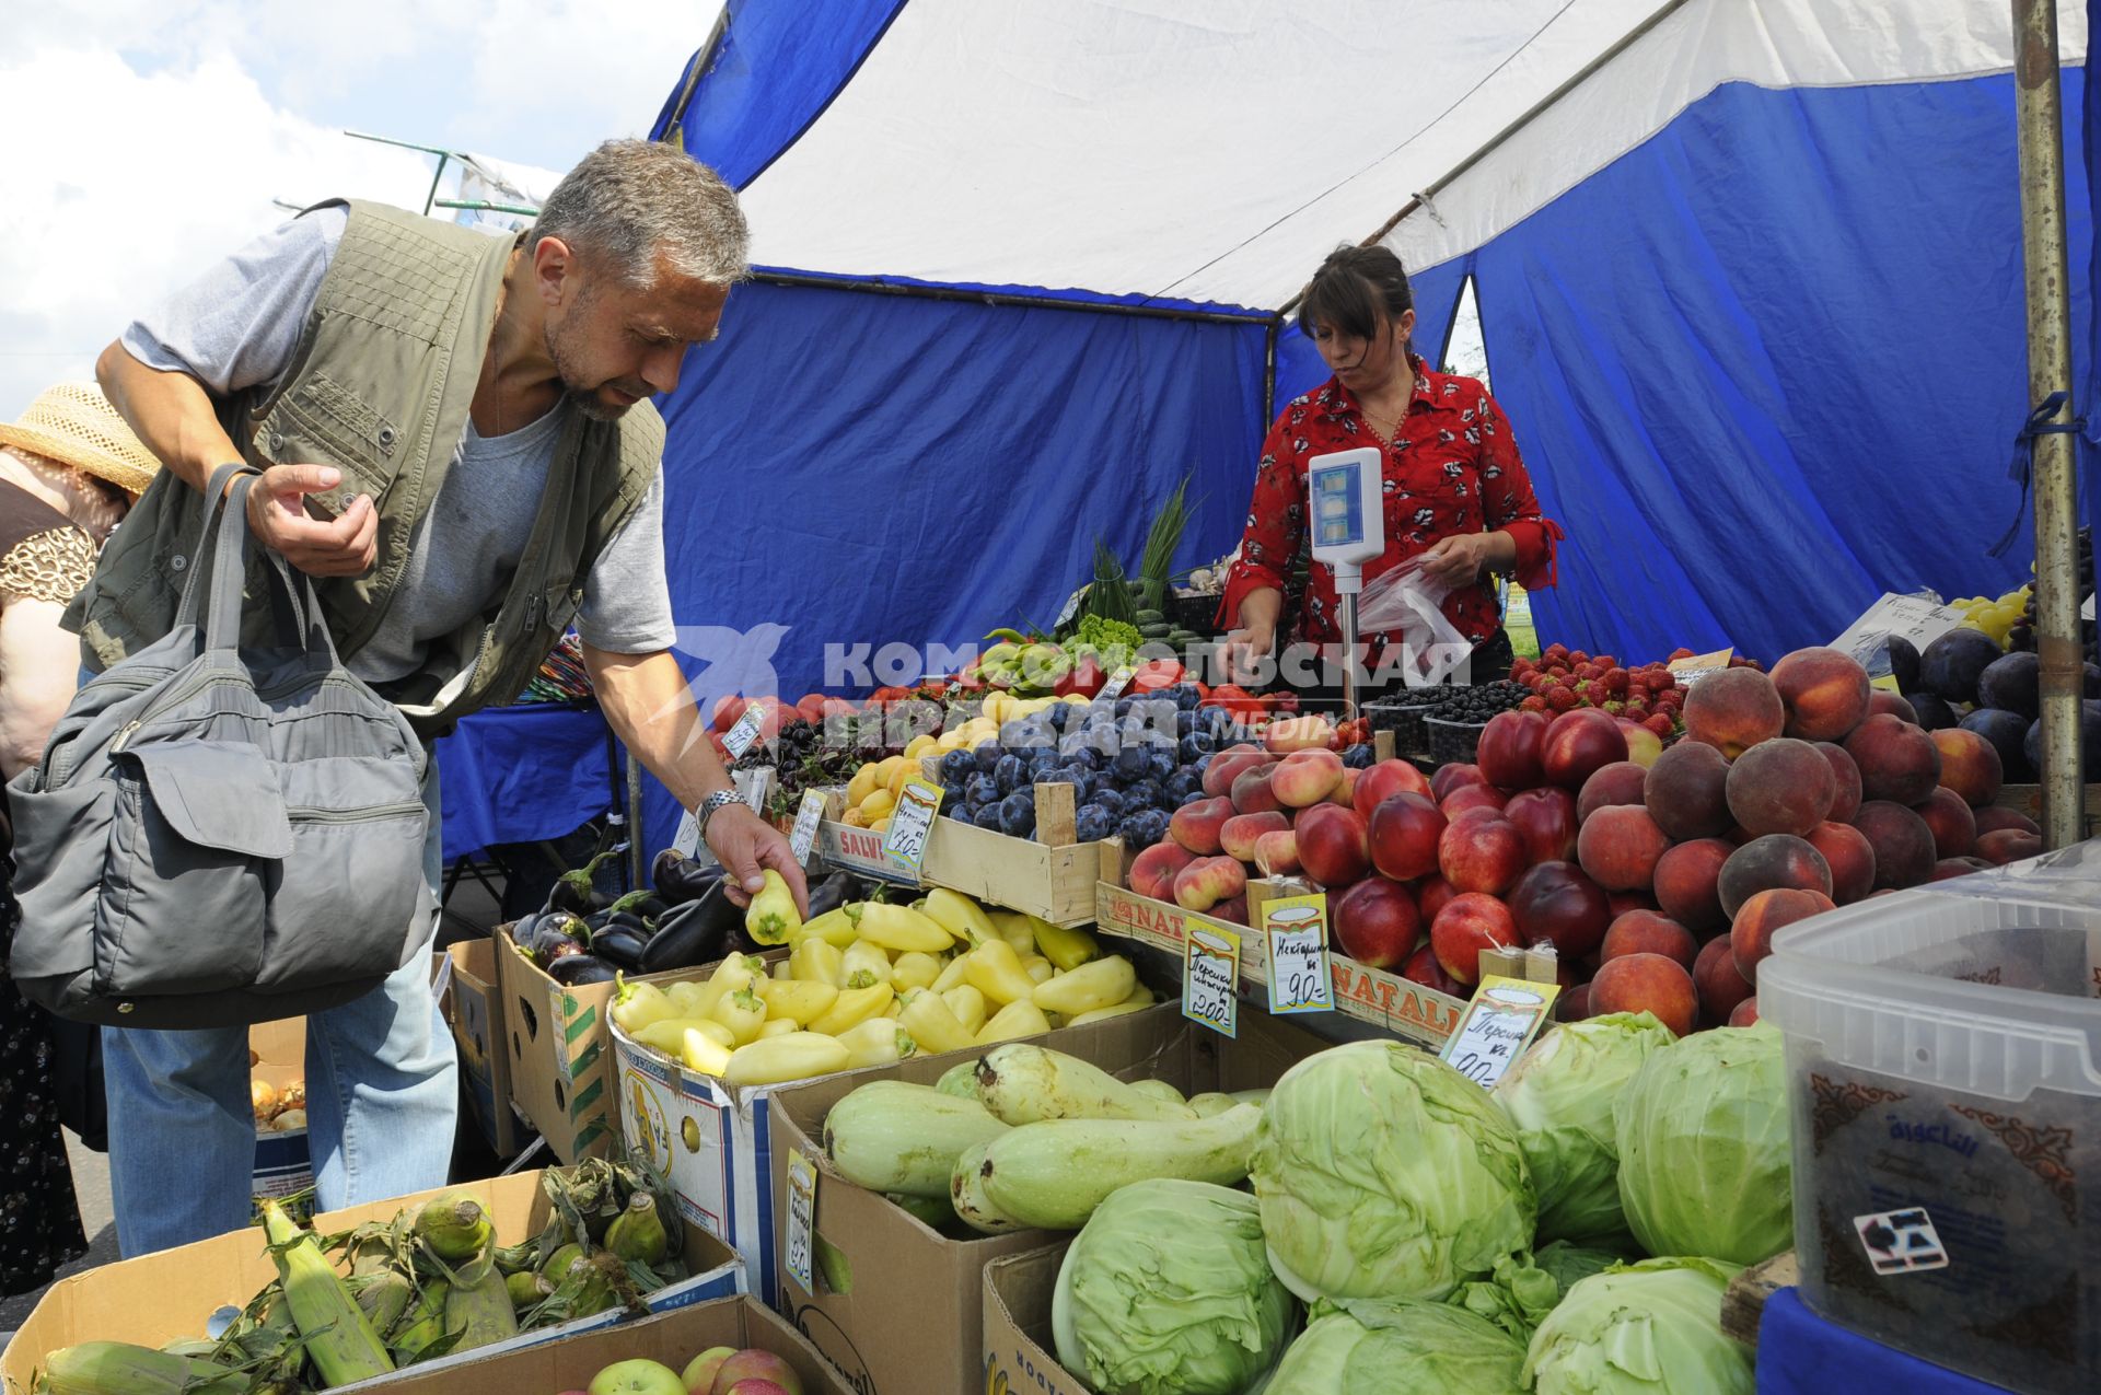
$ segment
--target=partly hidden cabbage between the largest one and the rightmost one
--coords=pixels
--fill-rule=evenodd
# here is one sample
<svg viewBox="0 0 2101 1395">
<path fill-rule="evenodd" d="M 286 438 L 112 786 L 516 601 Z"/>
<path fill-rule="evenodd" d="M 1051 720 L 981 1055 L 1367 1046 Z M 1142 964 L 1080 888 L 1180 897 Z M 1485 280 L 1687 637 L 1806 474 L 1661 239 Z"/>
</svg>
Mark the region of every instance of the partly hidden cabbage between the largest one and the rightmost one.
<svg viewBox="0 0 2101 1395">
<path fill-rule="evenodd" d="M 1540 1240 L 1624 1244 L 1611 1105 L 1674 1040 L 1649 1013 L 1607 1013 L 1555 1027 L 1496 1084 L 1540 1193 Z"/>
</svg>

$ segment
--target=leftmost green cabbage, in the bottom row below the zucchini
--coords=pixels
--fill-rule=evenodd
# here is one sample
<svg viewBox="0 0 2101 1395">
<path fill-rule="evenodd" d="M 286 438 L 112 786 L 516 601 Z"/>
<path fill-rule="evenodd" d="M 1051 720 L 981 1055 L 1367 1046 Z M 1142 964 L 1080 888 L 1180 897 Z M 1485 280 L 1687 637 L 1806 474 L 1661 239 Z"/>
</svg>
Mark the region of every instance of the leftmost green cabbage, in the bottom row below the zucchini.
<svg viewBox="0 0 2101 1395">
<path fill-rule="evenodd" d="M 1292 1309 L 1254 1198 L 1147 1181 L 1109 1193 L 1072 1242 L 1050 1328 L 1099 1395 L 1240 1395 L 1275 1363 Z"/>
</svg>

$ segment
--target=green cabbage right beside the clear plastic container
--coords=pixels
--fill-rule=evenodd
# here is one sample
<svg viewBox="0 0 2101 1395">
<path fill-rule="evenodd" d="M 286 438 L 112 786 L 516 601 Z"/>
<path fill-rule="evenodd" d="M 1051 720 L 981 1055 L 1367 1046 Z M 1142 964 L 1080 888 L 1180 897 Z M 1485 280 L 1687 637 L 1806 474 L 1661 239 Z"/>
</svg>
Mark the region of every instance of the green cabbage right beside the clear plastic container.
<svg viewBox="0 0 2101 1395">
<path fill-rule="evenodd" d="M 1649 1254 L 1756 1265 L 1794 1244 L 1780 1040 L 1767 1023 L 1689 1036 L 1620 1095 L 1620 1204 Z"/>
</svg>

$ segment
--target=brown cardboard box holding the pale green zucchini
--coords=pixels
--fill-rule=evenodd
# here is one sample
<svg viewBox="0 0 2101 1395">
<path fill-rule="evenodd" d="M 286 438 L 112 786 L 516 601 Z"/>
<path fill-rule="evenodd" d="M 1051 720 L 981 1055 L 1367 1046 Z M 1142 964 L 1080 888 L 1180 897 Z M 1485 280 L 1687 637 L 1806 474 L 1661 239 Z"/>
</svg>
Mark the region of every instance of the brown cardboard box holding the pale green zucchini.
<svg viewBox="0 0 2101 1395">
<path fill-rule="evenodd" d="M 1166 1080 L 1185 1095 L 1275 1084 L 1298 1059 L 1328 1046 L 1313 1034 L 1261 1013 L 1242 1019 L 1237 1040 L 1223 1038 L 1187 1021 L 1172 1004 L 1065 1027 L 1032 1038 L 1032 1044 L 1082 1057 L 1124 1080 Z M 1002 1389 L 979 1384 L 985 1265 L 1059 1244 L 1059 1235 L 1050 1231 L 948 1240 L 878 1193 L 849 1183 L 824 1155 L 824 1118 L 847 1092 L 870 1080 L 933 1084 L 960 1059 L 969 1055 L 901 1061 L 773 1092 L 777 1254 L 788 1248 L 788 1153 L 798 1151 L 817 1168 L 817 1258 L 811 1265 L 817 1292 L 798 1284 L 782 1265 L 775 1307 L 817 1342 L 861 1395 Z M 1036 1387 L 1017 1382 L 1004 1389 Z"/>
</svg>

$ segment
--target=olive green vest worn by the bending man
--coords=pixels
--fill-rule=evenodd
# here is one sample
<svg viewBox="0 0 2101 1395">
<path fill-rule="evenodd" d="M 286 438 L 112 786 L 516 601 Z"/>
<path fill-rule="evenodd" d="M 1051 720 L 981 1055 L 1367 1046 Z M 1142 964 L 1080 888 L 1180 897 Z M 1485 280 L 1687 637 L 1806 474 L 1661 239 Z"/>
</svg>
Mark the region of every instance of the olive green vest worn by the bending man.
<svg viewBox="0 0 2101 1395">
<path fill-rule="evenodd" d="M 378 630 L 416 521 L 437 500 L 466 435 L 515 246 L 384 204 L 351 202 L 349 210 L 292 368 L 275 391 L 254 389 L 221 403 L 227 433 L 252 464 L 342 471 L 340 487 L 309 496 L 311 511 L 336 517 L 357 494 L 378 506 L 372 571 L 315 580 L 345 660 Z M 618 422 L 569 412 L 532 538 L 504 595 L 431 645 L 420 672 L 378 685 L 380 693 L 427 737 L 517 698 L 576 616 L 590 565 L 641 504 L 662 454 L 664 420 L 649 403 Z M 107 668 L 174 628 L 202 523 L 204 498 L 162 471 L 65 611 L 88 668 Z M 267 643 L 271 624 L 263 565 L 254 559 L 248 574 L 248 643 Z"/>
</svg>

